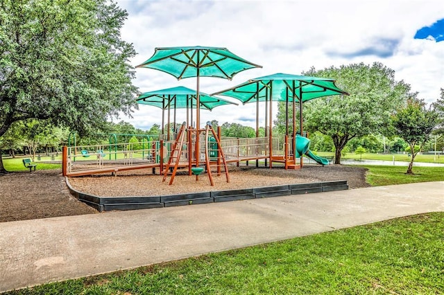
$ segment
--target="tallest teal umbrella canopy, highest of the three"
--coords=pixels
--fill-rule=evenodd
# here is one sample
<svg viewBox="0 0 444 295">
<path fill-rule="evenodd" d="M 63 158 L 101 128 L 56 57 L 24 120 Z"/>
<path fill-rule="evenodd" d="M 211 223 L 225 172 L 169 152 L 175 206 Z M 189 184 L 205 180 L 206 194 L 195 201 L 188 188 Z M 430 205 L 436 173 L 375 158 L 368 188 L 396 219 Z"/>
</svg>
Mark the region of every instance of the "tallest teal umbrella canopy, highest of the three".
<svg viewBox="0 0 444 295">
<path fill-rule="evenodd" d="M 178 80 L 190 77 L 232 77 L 252 68 L 262 68 L 222 47 L 159 47 L 146 62 L 137 67 L 156 69 Z"/>
</svg>

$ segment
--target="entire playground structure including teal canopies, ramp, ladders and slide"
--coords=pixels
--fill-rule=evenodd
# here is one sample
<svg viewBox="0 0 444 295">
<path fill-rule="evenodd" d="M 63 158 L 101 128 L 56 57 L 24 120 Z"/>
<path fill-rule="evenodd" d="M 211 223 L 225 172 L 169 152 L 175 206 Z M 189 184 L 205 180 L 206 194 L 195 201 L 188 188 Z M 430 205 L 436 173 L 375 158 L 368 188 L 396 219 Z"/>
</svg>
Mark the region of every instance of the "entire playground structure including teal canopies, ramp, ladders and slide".
<svg viewBox="0 0 444 295">
<path fill-rule="evenodd" d="M 269 168 L 273 168 L 273 163 L 280 163 L 285 169 L 300 169 L 303 165 L 304 155 L 322 165 L 329 163 L 327 159 L 317 157 L 309 150 L 310 141 L 303 136 L 302 105 L 305 101 L 322 96 L 348 95 L 336 87 L 334 80 L 275 73 L 250 79 L 236 87 L 213 93 L 211 95 L 213 98 L 202 93 L 202 98 L 207 96 L 216 105 L 222 102 L 220 98 L 214 97 L 216 94 L 236 98 L 244 104 L 256 102 L 256 137 L 226 138 L 221 136 L 219 127 L 215 132 L 210 123 L 207 123 L 205 129 L 200 129 L 200 107 L 201 105 L 205 107 L 203 103 L 205 99 L 200 101 L 200 76 L 231 80 L 232 76 L 239 71 L 262 66 L 234 55 L 227 48 L 191 46 L 155 48 L 153 56 L 137 67 L 164 71 L 178 80 L 196 77 L 195 92 L 187 89 L 188 92 L 185 93 L 185 89 L 175 87 L 142 93 L 137 99 L 139 103 L 162 108 L 162 127 L 164 125 L 163 111 L 168 109 L 170 116 L 171 107 L 174 109 L 174 125 L 176 126 L 176 109 L 183 107 L 187 109 L 187 123 L 182 124 L 173 140 L 168 132 L 167 140 L 164 140 L 165 138 L 162 136 L 157 140 L 148 141 L 146 147 L 142 146 L 142 149 L 136 149 L 132 143 L 123 145 L 114 143 L 112 145 L 111 141 L 108 151 L 103 148 L 103 145 L 78 147 L 74 144 L 72 147 L 65 147 L 63 150 L 63 175 L 74 177 L 103 172 L 117 174 L 121 170 L 142 168 L 152 168 L 153 174 L 155 174 L 155 169 L 159 168 L 160 175 L 163 175 L 162 180 L 166 181 L 170 176 L 169 184 L 173 184 L 178 170 L 187 170 L 190 176 L 196 175 L 196 180 L 205 170 L 210 184 L 214 185 L 213 170 L 217 175 L 225 174 L 227 182 L 230 182 L 228 163 L 236 163 L 239 166 L 241 161 L 247 161 L 247 163 L 248 161 L 256 161 L 256 166 L 259 166 L 259 161 L 264 160 L 265 166 L 268 162 Z M 273 101 L 286 103 L 287 117 L 284 136 L 273 135 Z M 259 102 L 265 102 L 264 137 L 259 137 Z M 293 111 L 292 134 L 289 134 L 290 103 Z M 296 133 L 296 103 L 298 103 L 300 112 L 299 128 L 302 136 L 298 136 Z M 191 108 L 192 116 L 194 105 L 196 107 L 196 128 L 186 127 L 189 108 Z M 207 107 L 207 109 L 212 107 Z M 168 122 L 170 123 L 170 118 Z M 78 161 L 77 155 L 85 149 L 94 150 L 95 157 L 85 157 L 83 161 Z"/>
</svg>

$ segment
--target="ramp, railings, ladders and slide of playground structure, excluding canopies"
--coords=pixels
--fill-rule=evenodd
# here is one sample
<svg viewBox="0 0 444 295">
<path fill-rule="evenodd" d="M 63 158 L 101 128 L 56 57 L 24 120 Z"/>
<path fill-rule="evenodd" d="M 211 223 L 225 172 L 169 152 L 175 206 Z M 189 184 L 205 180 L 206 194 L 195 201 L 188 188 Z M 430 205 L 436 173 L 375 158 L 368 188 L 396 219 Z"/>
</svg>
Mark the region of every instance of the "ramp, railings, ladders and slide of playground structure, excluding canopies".
<svg viewBox="0 0 444 295">
<path fill-rule="evenodd" d="M 129 134 L 127 134 L 129 135 Z M 111 135 L 110 138 L 115 138 Z M 162 138 L 162 137 L 161 137 Z M 196 145 L 198 141 L 198 145 Z M 71 141 L 69 141 L 71 143 Z M 72 145 L 63 148 L 63 175 L 76 177 L 99 173 L 112 173 L 135 169 L 156 169 L 169 184 L 178 171 L 187 171 L 188 175 L 206 172 L 210 184 L 214 185 L 212 175 L 225 175 L 227 182 L 228 163 L 239 166 L 242 161 L 281 163 L 284 169 L 299 169 L 303 155 L 317 163 L 327 165 L 329 161 L 317 157 L 309 150 L 310 141 L 304 136 L 296 136 L 296 141 L 288 135 L 273 137 L 232 138 L 221 136 L 221 127 L 214 131 L 210 123 L 205 129 L 185 127 L 182 124 L 175 141 L 155 139 L 153 136 L 142 143 L 117 143 L 111 140 L 108 145 Z M 136 149 L 135 145 L 139 145 Z M 198 146 L 198 149 L 196 149 Z M 88 151 L 84 154 L 82 151 Z M 293 152 L 294 151 L 294 152 Z"/>
</svg>

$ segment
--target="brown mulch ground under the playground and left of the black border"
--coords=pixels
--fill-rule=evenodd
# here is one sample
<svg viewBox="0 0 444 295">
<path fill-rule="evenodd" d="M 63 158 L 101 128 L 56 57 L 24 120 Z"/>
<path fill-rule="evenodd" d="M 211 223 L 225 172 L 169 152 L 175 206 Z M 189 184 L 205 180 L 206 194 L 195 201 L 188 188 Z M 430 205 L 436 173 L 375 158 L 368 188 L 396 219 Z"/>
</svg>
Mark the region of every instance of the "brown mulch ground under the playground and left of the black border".
<svg viewBox="0 0 444 295">
<path fill-rule="evenodd" d="M 119 172 L 117 177 L 109 174 L 73 177 L 69 183 L 76 190 L 101 197 L 175 195 L 334 180 L 347 180 L 350 188 L 369 186 L 365 180 L 366 169 L 350 166 L 307 165 L 301 170 L 230 166 L 229 171 L 230 183 L 224 175 L 214 176 L 214 186 L 210 186 L 207 175 L 200 175 L 196 181 L 195 176 L 185 172 L 178 173 L 169 186 L 169 178 L 162 182 L 162 176 L 152 175 L 151 170 Z M 0 222 L 94 213 L 98 212 L 69 193 L 60 170 L 0 175 Z"/>
</svg>

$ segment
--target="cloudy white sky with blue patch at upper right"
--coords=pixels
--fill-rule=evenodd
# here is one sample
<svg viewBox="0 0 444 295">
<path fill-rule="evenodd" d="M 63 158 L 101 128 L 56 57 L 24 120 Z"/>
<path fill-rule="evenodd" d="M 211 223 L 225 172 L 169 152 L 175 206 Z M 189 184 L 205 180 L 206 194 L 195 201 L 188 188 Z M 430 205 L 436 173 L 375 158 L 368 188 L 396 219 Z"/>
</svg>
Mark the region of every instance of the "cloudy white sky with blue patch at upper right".
<svg viewBox="0 0 444 295">
<path fill-rule="evenodd" d="M 200 91 L 213 93 L 250 78 L 273 73 L 300 74 L 364 62 L 382 62 L 395 79 L 411 84 L 427 102 L 444 88 L 444 5 L 442 0 L 117 0 L 129 16 L 122 38 L 135 46 L 136 66 L 162 46 L 222 46 L 262 69 L 250 69 L 232 81 L 201 78 Z M 136 69 L 139 91 L 176 86 L 196 89 L 196 80 L 176 80 L 151 69 Z M 351 89 L 344 89 L 351 91 Z M 225 97 L 224 97 L 225 98 Z M 228 98 L 229 100 L 230 98 Z M 237 102 L 236 100 L 232 100 Z M 274 107 L 274 109 L 277 109 Z M 140 106 L 137 128 L 162 123 L 160 109 Z M 223 106 L 201 111 L 201 122 L 255 126 L 255 106 Z M 185 111 L 178 111 L 178 122 Z M 264 118 L 261 118 L 261 125 Z"/>
</svg>

